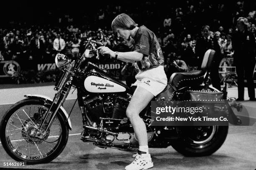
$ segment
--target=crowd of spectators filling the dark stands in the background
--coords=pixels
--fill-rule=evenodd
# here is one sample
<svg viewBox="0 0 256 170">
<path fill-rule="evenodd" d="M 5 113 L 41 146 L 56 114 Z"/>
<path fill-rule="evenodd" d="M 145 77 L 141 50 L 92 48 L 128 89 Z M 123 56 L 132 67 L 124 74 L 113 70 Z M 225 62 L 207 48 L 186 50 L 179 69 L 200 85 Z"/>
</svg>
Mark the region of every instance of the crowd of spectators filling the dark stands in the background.
<svg viewBox="0 0 256 170">
<path fill-rule="evenodd" d="M 132 40 L 123 40 L 111 30 L 111 21 L 120 13 L 127 13 L 139 25 L 154 31 L 164 57 L 180 56 L 187 65 L 195 66 L 195 46 L 201 36 L 202 25 L 210 25 L 210 36 L 218 40 L 222 57 L 232 57 L 232 34 L 236 19 L 246 17 L 250 31 L 256 34 L 256 2 L 213 0 L 182 0 L 177 4 L 141 1 L 137 5 L 116 4 L 98 7 L 90 15 L 56 17 L 55 23 L 12 23 L 0 28 L 0 60 L 54 61 L 56 52 L 73 57 L 88 37 L 97 38 L 100 31 L 107 35 L 106 46 L 115 51 L 128 51 Z M 93 16 L 93 17 L 91 17 Z M 82 18 L 82 19 L 81 19 Z M 3 26 L 3 25 L 2 25 Z"/>
</svg>

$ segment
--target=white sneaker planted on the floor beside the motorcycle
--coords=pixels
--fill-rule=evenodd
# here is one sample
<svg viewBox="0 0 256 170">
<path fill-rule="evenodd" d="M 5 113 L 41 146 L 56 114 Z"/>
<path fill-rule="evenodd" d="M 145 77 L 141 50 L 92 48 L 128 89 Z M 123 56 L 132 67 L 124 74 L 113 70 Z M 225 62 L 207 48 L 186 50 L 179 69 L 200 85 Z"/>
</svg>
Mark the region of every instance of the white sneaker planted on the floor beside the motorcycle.
<svg viewBox="0 0 256 170">
<path fill-rule="evenodd" d="M 135 160 L 133 160 L 131 164 L 127 165 L 125 170 L 146 170 L 154 166 L 150 154 L 139 155 L 136 153 L 133 157 L 135 157 Z"/>
</svg>

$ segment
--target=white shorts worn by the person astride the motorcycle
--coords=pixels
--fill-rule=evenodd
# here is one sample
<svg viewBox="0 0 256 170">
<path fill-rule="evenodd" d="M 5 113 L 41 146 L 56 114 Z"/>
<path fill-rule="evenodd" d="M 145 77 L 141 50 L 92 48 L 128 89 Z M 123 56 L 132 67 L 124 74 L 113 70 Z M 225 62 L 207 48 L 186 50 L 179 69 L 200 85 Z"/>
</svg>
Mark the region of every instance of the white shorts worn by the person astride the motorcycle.
<svg viewBox="0 0 256 170">
<path fill-rule="evenodd" d="M 138 72 L 135 76 L 137 81 L 132 84 L 143 87 L 154 96 L 158 95 L 167 85 L 167 77 L 164 72 L 164 66 L 159 65 L 156 68 Z"/>
</svg>

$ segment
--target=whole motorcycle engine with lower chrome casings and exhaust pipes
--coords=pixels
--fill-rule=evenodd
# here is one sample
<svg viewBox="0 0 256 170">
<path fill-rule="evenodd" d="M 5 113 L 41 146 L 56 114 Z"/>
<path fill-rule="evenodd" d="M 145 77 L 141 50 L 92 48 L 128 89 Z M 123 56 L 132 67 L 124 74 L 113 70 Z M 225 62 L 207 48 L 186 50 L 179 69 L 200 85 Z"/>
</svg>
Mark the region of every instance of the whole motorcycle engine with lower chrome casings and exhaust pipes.
<svg viewBox="0 0 256 170">
<path fill-rule="evenodd" d="M 84 98 L 84 104 L 88 110 L 88 117 L 92 122 L 92 127 L 100 127 L 100 117 L 103 119 L 103 127 L 111 133 L 117 133 L 113 135 L 111 133 L 104 133 L 101 135 L 100 131 L 91 129 L 87 131 L 90 134 L 90 138 L 94 136 L 100 140 L 108 140 L 112 142 L 112 145 L 138 145 L 138 139 L 131 127 L 124 120 L 125 111 L 129 104 L 129 97 L 122 97 L 115 94 L 101 94 L 95 96 L 87 96 Z M 86 136 L 87 133 L 84 134 Z M 152 140 L 154 133 L 149 128 L 147 130 L 148 142 Z"/>
</svg>

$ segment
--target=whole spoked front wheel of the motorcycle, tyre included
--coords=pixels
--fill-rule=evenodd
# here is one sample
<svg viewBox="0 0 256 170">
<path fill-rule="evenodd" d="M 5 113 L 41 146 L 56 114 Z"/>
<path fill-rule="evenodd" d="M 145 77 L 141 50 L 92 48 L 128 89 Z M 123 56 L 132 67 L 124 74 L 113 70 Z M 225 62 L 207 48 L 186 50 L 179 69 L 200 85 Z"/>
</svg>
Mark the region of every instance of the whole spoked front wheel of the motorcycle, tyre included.
<svg viewBox="0 0 256 170">
<path fill-rule="evenodd" d="M 14 160 L 26 161 L 27 164 L 48 163 L 64 150 L 69 129 L 60 112 L 57 112 L 49 130 L 38 137 L 38 128 L 49 107 L 49 103 L 41 100 L 25 99 L 13 105 L 3 116 L 0 139 Z"/>
</svg>

